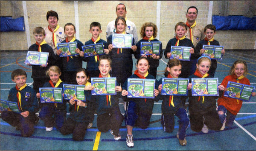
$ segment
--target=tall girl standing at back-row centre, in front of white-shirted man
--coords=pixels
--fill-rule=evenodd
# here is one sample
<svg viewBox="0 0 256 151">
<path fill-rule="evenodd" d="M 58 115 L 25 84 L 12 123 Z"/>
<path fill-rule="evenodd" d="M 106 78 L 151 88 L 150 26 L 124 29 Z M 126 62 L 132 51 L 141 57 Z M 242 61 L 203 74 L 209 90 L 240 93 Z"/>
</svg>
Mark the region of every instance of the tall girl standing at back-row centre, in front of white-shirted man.
<svg viewBox="0 0 256 151">
<path fill-rule="evenodd" d="M 125 32 L 126 21 L 123 17 L 117 17 L 115 21 L 116 33 L 115 34 L 128 34 Z M 131 49 L 113 48 L 112 36 L 108 37 L 108 50 L 112 64 L 112 76 L 116 77 L 116 80 L 121 86 L 125 83 L 125 80 L 132 75 L 132 54 L 137 50 L 137 46 L 134 45 L 134 38 L 132 39 Z"/>
</svg>

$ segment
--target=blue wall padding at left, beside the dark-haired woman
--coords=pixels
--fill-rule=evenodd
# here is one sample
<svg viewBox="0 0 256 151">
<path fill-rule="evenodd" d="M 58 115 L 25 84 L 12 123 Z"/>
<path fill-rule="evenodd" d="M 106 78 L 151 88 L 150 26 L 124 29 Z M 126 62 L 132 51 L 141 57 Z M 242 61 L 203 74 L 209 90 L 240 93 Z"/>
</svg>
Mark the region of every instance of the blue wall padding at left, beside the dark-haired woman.
<svg viewBox="0 0 256 151">
<path fill-rule="evenodd" d="M 12 19 L 12 17 L 1 17 L 1 32 L 7 31 L 25 31 L 24 18 L 19 17 Z"/>
</svg>

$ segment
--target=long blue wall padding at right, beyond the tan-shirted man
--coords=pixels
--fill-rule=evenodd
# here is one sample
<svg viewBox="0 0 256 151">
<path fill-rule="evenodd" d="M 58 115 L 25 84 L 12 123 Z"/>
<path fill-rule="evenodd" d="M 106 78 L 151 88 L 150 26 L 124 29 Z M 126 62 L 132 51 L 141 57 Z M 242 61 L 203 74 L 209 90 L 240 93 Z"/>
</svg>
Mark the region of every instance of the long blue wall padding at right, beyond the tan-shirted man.
<svg viewBox="0 0 256 151">
<path fill-rule="evenodd" d="M 212 16 L 212 25 L 216 30 L 254 30 L 256 31 L 256 17 L 244 16 Z"/>
</svg>

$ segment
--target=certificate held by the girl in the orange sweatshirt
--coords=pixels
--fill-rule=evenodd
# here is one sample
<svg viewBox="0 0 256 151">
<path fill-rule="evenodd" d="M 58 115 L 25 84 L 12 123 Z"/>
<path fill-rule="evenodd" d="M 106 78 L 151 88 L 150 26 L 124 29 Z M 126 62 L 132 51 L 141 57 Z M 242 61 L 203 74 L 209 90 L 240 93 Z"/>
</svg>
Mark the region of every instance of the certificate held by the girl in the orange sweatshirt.
<svg viewBox="0 0 256 151">
<path fill-rule="evenodd" d="M 224 92 L 224 96 L 242 101 L 250 101 L 253 89 L 255 89 L 255 87 L 250 85 L 228 81 L 227 91 Z"/>
</svg>

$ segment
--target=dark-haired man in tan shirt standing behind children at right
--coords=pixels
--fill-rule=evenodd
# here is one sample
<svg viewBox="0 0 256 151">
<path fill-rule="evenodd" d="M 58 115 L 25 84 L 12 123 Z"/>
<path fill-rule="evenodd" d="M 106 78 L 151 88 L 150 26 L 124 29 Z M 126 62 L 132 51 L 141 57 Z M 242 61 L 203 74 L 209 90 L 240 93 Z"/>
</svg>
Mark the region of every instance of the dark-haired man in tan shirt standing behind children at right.
<svg viewBox="0 0 256 151">
<path fill-rule="evenodd" d="M 186 33 L 186 38 L 189 38 L 194 47 L 198 44 L 199 41 L 204 39 L 204 27 L 201 25 L 198 25 L 195 21 L 196 17 L 198 15 L 198 9 L 195 6 L 190 6 L 187 9 L 186 12 L 186 18 L 187 22 L 186 25 L 189 27 L 188 31 Z M 191 59 L 192 61 L 192 66 L 190 70 L 190 74 L 195 73 L 195 64 L 196 64 L 196 59 Z"/>
</svg>

